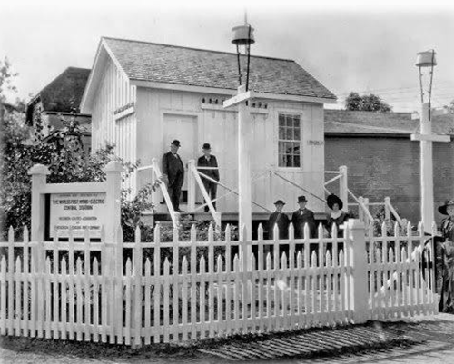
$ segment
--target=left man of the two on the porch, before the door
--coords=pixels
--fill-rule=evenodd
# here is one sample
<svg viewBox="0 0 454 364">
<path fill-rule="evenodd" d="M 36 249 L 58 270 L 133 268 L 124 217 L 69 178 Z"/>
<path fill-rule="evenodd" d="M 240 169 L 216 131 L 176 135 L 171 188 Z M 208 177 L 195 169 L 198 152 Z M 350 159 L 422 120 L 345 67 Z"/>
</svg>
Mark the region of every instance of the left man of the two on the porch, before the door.
<svg viewBox="0 0 454 364">
<path fill-rule="evenodd" d="M 171 143 L 170 152 L 163 155 L 163 176 L 167 184 L 167 189 L 171 198 L 173 209 L 176 212 L 180 210 L 180 195 L 182 193 L 184 167 L 178 149 L 181 144 L 176 139 Z"/>
</svg>

